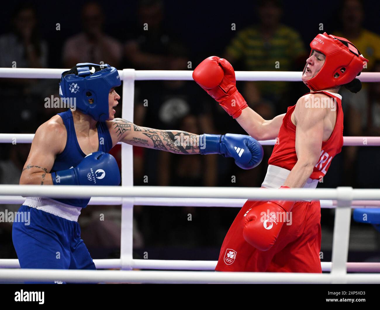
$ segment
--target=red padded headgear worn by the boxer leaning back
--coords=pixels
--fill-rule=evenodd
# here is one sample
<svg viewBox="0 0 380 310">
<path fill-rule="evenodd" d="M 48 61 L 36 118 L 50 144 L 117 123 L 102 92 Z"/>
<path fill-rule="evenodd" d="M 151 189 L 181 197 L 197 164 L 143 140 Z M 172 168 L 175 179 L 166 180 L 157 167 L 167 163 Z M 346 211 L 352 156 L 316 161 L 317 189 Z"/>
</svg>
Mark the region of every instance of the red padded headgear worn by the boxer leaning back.
<svg viewBox="0 0 380 310">
<path fill-rule="evenodd" d="M 350 41 L 328 35 L 326 32 L 318 34 L 310 43 L 310 47 L 310 56 L 313 50 L 326 56 L 321 70 L 305 82 L 310 89 L 323 90 L 347 84 L 360 74 L 364 62 L 368 62 Z"/>
</svg>

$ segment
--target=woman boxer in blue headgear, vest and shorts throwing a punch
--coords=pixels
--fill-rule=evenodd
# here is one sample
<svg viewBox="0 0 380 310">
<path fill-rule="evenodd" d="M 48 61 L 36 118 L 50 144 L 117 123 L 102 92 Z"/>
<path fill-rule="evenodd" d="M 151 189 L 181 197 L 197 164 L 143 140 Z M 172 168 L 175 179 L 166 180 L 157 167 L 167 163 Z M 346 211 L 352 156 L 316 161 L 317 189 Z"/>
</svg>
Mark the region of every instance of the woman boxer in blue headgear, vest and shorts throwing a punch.
<svg viewBox="0 0 380 310">
<path fill-rule="evenodd" d="M 262 147 L 249 136 L 199 136 L 114 119 L 120 99 L 114 88 L 120 85 L 117 70 L 108 65 L 83 63 L 63 72 L 60 96 L 75 100 L 76 109 L 37 129 L 20 184 L 119 185 L 119 168 L 107 153 L 119 141 L 178 154 L 219 153 L 243 169 L 260 163 Z M 27 197 L 19 211 L 30 212 L 30 225 L 15 222 L 12 232 L 21 268 L 95 269 L 77 222 L 89 200 Z"/>
</svg>

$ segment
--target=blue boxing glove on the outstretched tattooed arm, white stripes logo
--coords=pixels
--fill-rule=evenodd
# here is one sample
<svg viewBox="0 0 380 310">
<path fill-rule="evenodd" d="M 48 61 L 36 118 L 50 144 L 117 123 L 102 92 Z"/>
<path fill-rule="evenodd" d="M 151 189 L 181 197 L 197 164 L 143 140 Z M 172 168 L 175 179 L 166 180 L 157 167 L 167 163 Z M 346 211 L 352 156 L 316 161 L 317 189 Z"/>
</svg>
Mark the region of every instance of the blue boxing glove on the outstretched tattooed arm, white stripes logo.
<svg viewBox="0 0 380 310">
<path fill-rule="evenodd" d="M 202 134 L 199 136 L 199 141 L 201 154 L 222 154 L 224 157 L 233 157 L 236 165 L 242 169 L 255 168 L 263 159 L 261 144 L 244 134 Z"/>
</svg>

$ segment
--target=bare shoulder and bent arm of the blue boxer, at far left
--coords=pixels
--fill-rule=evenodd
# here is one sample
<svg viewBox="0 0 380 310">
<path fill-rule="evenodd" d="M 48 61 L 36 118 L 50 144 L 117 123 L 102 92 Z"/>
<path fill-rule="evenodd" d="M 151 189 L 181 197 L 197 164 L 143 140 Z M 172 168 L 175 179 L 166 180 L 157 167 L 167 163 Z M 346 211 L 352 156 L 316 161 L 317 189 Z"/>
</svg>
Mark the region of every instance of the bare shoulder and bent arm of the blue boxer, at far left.
<svg viewBox="0 0 380 310">
<path fill-rule="evenodd" d="M 66 142 L 65 126 L 54 120 L 43 123 L 36 131 L 28 158 L 20 177 L 20 185 L 52 185 L 49 173 L 57 154 L 62 152 Z M 62 137 L 62 139 L 57 139 Z M 64 142 L 63 142 L 64 141 Z"/>
</svg>

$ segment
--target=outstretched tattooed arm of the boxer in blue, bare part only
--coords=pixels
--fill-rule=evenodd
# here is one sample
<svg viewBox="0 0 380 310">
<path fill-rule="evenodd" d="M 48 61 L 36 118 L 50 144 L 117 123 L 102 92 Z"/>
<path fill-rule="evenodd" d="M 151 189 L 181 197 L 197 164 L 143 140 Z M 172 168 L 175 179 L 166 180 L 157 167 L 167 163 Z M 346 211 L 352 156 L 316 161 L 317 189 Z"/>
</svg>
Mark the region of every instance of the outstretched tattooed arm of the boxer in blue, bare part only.
<svg viewBox="0 0 380 310">
<path fill-rule="evenodd" d="M 147 147 L 179 154 L 198 154 L 199 135 L 180 130 L 160 130 L 137 126 L 122 118 L 109 122 L 112 143 Z"/>
</svg>

